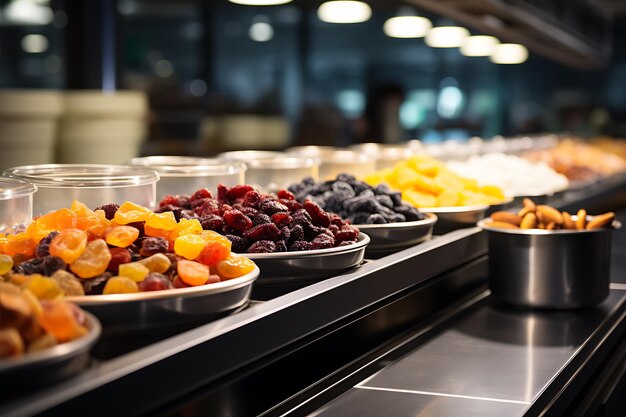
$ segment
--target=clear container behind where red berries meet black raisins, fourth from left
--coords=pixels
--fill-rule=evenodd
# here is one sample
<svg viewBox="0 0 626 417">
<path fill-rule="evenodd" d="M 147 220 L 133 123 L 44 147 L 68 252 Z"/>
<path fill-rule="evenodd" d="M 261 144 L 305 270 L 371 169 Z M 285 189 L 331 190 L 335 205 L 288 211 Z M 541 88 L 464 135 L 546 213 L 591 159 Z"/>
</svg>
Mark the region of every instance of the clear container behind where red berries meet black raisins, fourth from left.
<svg viewBox="0 0 626 417">
<path fill-rule="evenodd" d="M 276 192 L 306 177 L 319 178 L 318 158 L 281 154 L 275 158 L 246 161 L 246 183 L 265 192 Z"/>
</svg>

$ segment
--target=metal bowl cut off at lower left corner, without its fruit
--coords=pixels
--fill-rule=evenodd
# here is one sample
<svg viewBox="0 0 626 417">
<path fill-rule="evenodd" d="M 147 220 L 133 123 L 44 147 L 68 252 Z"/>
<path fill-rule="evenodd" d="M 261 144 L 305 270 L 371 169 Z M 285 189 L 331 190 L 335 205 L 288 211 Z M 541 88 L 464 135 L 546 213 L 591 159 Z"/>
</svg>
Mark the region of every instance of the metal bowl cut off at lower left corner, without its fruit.
<svg viewBox="0 0 626 417">
<path fill-rule="evenodd" d="M 25 387 L 46 386 L 82 371 L 89 362 L 89 350 L 102 332 L 96 317 L 88 312 L 85 317 L 89 332 L 79 339 L 0 359 L 0 391 L 8 394 Z"/>
</svg>

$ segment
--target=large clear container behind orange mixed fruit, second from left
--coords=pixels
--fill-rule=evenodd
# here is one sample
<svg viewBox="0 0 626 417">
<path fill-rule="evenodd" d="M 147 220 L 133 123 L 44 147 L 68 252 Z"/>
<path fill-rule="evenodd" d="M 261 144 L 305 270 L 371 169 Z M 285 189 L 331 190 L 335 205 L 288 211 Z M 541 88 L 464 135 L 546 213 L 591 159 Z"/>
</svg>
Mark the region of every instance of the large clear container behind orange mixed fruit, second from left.
<svg viewBox="0 0 626 417">
<path fill-rule="evenodd" d="M 69 207 L 72 200 L 79 200 L 91 209 L 125 201 L 154 209 L 159 180 L 154 170 L 128 165 L 25 165 L 9 168 L 4 175 L 37 186 L 33 216 Z"/>
</svg>

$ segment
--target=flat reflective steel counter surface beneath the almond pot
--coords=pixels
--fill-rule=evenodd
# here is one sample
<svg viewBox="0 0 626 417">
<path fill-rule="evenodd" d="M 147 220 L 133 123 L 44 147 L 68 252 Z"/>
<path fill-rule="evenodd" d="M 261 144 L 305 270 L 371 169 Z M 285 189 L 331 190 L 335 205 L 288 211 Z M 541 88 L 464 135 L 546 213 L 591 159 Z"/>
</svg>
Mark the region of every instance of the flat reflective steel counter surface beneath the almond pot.
<svg viewBox="0 0 626 417">
<path fill-rule="evenodd" d="M 576 311 L 514 310 L 487 298 L 313 415 L 523 416 L 625 303 L 620 289 Z"/>
</svg>

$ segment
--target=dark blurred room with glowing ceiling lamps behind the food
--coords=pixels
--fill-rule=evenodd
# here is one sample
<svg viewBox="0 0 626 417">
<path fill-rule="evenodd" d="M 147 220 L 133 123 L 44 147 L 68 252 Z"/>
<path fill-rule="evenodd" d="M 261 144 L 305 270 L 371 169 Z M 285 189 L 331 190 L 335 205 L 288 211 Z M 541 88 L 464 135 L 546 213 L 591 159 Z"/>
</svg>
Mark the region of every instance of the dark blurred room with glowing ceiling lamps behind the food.
<svg viewBox="0 0 626 417">
<path fill-rule="evenodd" d="M 624 137 L 625 22 L 621 0 L 0 0 L 3 164 Z"/>
</svg>

